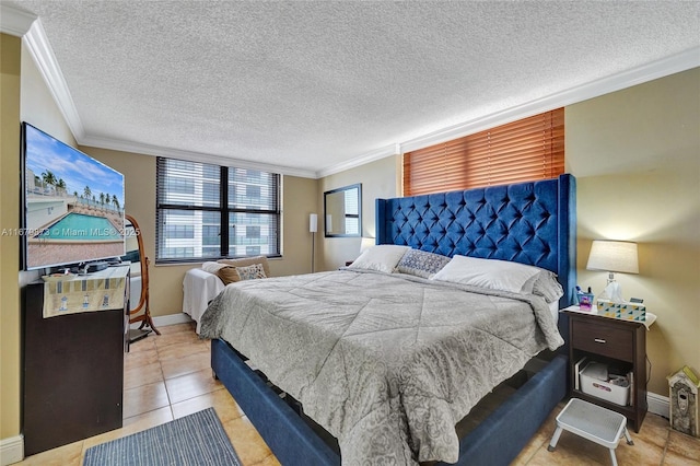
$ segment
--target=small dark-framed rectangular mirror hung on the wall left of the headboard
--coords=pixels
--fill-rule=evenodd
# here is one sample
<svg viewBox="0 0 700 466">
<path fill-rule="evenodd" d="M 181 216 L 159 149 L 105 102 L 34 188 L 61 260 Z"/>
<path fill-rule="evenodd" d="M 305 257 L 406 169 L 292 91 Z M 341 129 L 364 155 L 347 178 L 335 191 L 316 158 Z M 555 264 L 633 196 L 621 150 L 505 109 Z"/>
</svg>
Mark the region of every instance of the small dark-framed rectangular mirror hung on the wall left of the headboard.
<svg viewBox="0 0 700 466">
<path fill-rule="evenodd" d="M 362 235 L 362 184 L 324 193 L 326 237 Z"/>
</svg>

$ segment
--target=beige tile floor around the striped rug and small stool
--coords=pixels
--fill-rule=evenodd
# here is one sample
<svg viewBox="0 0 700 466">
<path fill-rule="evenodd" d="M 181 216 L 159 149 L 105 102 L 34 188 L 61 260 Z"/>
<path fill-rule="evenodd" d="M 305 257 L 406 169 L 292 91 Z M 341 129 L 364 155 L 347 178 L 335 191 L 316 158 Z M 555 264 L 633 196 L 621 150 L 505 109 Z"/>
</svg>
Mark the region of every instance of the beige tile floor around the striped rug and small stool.
<svg viewBox="0 0 700 466">
<path fill-rule="evenodd" d="M 84 441 L 30 456 L 20 465 L 80 466 L 85 448 L 149 429 L 170 420 L 213 407 L 245 466 L 279 465 L 245 413 L 209 368 L 209 342 L 200 340 L 190 324 L 159 328 L 131 346 L 125 358 L 124 427 Z M 513 465 L 609 465 L 607 448 L 562 432 L 557 450 L 547 451 L 555 418 L 564 404 L 533 436 Z M 639 433 L 630 432 L 634 445 L 621 441 L 620 465 L 700 465 L 700 439 L 668 428 L 668 421 L 648 415 Z M 108 466 L 108 465 L 107 465 Z M 296 466 L 296 465 L 291 465 Z"/>
</svg>

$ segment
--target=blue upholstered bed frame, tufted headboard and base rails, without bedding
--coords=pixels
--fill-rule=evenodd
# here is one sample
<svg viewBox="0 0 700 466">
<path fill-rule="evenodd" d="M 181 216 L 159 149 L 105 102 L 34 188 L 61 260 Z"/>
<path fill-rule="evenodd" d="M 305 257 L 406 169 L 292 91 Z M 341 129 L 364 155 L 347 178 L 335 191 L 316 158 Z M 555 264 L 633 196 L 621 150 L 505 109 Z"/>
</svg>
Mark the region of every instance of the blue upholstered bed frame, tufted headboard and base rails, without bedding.
<svg viewBox="0 0 700 466">
<path fill-rule="evenodd" d="M 516 260 L 558 273 L 560 307 L 576 280 L 575 178 L 442 195 L 377 199 L 377 244 Z M 508 465 L 568 392 L 567 343 L 536 375 L 460 440 L 459 465 Z M 211 343 L 211 366 L 282 465 L 339 465 L 340 456 L 223 340 Z M 443 463 L 439 463 L 443 464 Z"/>
</svg>

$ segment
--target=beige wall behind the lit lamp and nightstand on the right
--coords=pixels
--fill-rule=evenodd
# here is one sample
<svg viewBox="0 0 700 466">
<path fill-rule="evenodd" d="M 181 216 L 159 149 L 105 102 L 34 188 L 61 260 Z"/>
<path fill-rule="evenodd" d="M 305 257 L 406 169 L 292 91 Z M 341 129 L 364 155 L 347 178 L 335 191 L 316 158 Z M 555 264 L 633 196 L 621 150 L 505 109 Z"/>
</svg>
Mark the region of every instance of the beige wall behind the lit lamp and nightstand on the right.
<svg viewBox="0 0 700 466">
<path fill-rule="evenodd" d="M 618 273 L 625 298 L 658 321 L 646 334 L 650 392 L 665 376 L 700 370 L 700 68 L 567 107 L 567 163 L 578 179 L 579 282 L 591 242 L 639 243 L 639 275 Z"/>
</svg>

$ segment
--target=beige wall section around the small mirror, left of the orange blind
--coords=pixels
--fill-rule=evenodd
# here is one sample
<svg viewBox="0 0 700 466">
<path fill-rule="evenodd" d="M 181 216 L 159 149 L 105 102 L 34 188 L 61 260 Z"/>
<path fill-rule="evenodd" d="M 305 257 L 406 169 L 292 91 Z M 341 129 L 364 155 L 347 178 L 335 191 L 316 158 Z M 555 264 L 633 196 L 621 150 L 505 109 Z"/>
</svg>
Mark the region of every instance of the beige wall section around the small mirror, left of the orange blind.
<svg viewBox="0 0 700 466">
<path fill-rule="evenodd" d="M 397 163 L 399 160 L 398 155 L 387 156 L 320 179 L 316 208 L 318 213 L 316 271 L 337 269 L 360 255 L 361 238 L 324 236 L 324 191 L 362 183 L 362 236 L 375 237 L 374 200 L 398 196 L 397 186 L 400 184 L 397 173 L 400 171 Z"/>
</svg>

